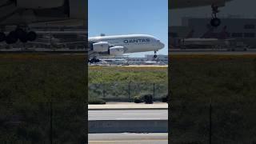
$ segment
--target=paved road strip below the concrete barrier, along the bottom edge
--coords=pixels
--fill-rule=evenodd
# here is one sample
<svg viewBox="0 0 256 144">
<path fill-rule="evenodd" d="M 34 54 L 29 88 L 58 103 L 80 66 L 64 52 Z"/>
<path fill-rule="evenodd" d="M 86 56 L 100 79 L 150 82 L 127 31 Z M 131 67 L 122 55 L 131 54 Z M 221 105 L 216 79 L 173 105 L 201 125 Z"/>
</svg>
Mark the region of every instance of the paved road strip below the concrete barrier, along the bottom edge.
<svg viewBox="0 0 256 144">
<path fill-rule="evenodd" d="M 167 144 L 167 133 L 154 133 L 154 134 L 89 134 L 90 144 Z"/>
</svg>

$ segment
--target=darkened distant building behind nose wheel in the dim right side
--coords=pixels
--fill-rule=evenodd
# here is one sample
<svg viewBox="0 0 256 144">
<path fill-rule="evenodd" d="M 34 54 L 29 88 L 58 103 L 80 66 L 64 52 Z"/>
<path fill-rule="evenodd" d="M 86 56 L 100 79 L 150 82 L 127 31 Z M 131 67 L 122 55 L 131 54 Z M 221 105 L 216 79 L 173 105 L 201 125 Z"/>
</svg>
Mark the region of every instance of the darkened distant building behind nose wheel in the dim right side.
<svg viewBox="0 0 256 144">
<path fill-rule="evenodd" d="M 256 18 L 222 18 L 221 26 L 215 29 L 209 22 L 209 18 L 182 18 L 182 26 L 170 26 L 170 43 L 175 45 L 177 38 L 219 38 L 226 29 L 225 38 L 236 38 L 256 48 Z"/>
</svg>

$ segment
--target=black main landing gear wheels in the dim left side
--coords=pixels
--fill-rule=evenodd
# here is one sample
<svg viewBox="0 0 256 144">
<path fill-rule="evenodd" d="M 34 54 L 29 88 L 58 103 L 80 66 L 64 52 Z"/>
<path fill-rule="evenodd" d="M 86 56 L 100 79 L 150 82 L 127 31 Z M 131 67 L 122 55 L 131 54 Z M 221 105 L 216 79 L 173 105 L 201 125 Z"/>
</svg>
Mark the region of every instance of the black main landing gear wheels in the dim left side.
<svg viewBox="0 0 256 144">
<path fill-rule="evenodd" d="M 27 32 L 22 28 L 16 28 L 14 31 L 10 31 L 9 34 L 0 32 L 0 42 L 6 41 L 7 44 L 14 44 L 18 42 L 34 41 L 37 38 L 37 34 L 34 31 Z"/>
</svg>

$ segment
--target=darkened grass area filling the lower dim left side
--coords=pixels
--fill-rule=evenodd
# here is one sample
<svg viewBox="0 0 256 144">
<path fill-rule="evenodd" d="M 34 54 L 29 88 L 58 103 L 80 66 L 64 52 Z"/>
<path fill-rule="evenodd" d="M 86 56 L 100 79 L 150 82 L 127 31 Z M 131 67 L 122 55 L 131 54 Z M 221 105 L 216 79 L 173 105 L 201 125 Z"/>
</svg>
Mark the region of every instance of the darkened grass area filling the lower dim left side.
<svg viewBox="0 0 256 144">
<path fill-rule="evenodd" d="M 49 143 L 52 107 L 54 142 L 81 143 L 85 79 L 83 55 L 0 54 L 1 142 Z"/>
</svg>

